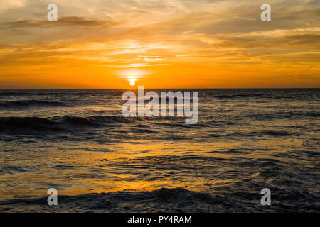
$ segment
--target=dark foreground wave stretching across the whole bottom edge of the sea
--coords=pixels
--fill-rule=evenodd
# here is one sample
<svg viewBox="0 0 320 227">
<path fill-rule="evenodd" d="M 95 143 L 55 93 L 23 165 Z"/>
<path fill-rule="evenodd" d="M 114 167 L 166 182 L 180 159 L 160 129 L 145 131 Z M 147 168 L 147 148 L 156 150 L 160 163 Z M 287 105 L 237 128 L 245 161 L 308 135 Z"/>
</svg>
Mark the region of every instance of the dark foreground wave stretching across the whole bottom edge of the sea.
<svg viewBox="0 0 320 227">
<path fill-rule="evenodd" d="M 288 182 L 291 183 L 291 182 Z M 58 195 L 58 206 L 48 206 L 48 196 L 0 201 L 0 211 L 11 212 L 105 212 L 105 213 L 219 213 L 219 212 L 317 212 L 319 196 L 310 192 L 292 192 L 274 187 L 272 206 L 257 206 L 261 195 L 252 192 L 216 192 L 215 195 L 184 187 L 154 191 Z M 292 204 L 287 201 L 293 201 Z M 310 201 L 306 203 L 305 201 Z M 286 205 L 284 205 L 286 204 Z"/>
</svg>

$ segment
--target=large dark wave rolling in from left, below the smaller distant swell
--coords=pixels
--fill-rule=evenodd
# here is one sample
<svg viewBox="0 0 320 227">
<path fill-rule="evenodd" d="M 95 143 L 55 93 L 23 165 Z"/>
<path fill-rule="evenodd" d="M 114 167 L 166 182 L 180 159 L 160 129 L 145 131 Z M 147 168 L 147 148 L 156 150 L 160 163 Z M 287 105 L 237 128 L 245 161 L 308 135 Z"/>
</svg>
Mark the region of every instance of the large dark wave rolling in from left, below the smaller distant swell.
<svg viewBox="0 0 320 227">
<path fill-rule="evenodd" d="M 0 117 L 0 134 L 37 134 L 41 133 L 80 133 L 91 129 L 101 129 L 114 131 L 114 127 L 118 127 L 117 132 L 127 131 L 141 134 L 157 134 L 160 131 L 150 128 L 152 126 L 161 125 L 159 119 L 164 117 L 124 117 L 121 115 L 108 116 L 55 116 L 48 118 L 41 117 Z M 180 119 L 180 118 L 178 118 Z M 167 119 L 166 119 L 167 120 Z M 184 121 L 169 121 L 166 126 L 170 127 L 195 127 L 187 126 Z M 202 126 L 202 125 L 201 125 Z M 124 127 L 124 128 L 123 128 Z M 125 129 L 126 127 L 129 127 Z M 198 126 L 200 127 L 200 126 Z M 122 129 L 123 128 L 123 129 Z M 95 135 L 99 132 L 95 131 Z M 122 135 L 124 136 L 124 135 Z"/>
</svg>

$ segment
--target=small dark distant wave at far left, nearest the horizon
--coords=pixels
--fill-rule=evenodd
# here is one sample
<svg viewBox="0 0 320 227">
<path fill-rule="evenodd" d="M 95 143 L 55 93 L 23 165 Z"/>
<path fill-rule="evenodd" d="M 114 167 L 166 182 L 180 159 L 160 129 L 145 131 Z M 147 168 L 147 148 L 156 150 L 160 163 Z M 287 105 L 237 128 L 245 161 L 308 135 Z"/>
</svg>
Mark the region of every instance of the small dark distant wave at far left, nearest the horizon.
<svg viewBox="0 0 320 227">
<path fill-rule="evenodd" d="M 20 101 L 1 101 L 2 108 L 26 108 L 26 107 L 50 107 L 50 106 L 68 106 L 60 101 L 42 101 L 42 100 L 20 100 Z"/>
</svg>

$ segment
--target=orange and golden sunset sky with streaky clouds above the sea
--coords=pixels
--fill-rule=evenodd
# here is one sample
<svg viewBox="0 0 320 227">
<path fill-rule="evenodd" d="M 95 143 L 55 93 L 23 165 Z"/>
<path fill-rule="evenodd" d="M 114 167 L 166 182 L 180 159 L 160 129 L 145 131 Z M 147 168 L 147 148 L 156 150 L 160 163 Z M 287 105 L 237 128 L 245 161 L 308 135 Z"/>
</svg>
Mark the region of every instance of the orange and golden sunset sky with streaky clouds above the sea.
<svg viewBox="0 0 320 227">
<path fill-rule="evenodd" d="M 0 1 L 0 88 L 319 88 L 319 53 L 319 0 Z"/>
</svg>

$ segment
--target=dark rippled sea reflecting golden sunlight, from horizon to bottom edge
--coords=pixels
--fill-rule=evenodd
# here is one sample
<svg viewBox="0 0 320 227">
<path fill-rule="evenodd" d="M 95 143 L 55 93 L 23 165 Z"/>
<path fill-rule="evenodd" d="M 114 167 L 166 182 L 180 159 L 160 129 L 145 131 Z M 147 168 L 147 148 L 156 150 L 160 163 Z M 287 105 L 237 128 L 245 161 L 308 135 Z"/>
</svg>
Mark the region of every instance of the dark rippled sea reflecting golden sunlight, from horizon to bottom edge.
<svg viewBox="0 0 320 227">
<path fill-rule="evenodd" d="M 124 90 L 0 90 L 0 211 L 320 211 L 320 89 L 198 91 L 186 125 L 124 118 Z"/>
</svg>

